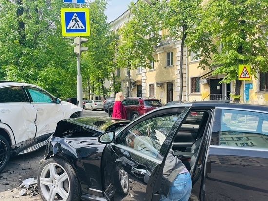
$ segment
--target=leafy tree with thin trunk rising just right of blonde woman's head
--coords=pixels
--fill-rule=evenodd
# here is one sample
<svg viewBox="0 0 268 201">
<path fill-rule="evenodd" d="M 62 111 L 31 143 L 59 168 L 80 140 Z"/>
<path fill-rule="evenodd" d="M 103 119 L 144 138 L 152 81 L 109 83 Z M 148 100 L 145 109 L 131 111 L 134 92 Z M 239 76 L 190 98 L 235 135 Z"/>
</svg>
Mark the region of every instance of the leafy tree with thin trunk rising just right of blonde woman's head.
<svg viewBox="0 0 268 201">
<path fill-rule="evenodd" d="M 156 62 L 152 53 L 153 45 L 159 41 L 159 2 L 152 2 L 139 0 L 135 5 L 131 2 L 128 23 L 119 30 L 121 37 L 116 61 L 118 67 L 128 68 L 129 86 L 131 69 L 151 68 L 149 61 Z M 131 95 L 130 87 L 129 94 Z"/>
</svg>

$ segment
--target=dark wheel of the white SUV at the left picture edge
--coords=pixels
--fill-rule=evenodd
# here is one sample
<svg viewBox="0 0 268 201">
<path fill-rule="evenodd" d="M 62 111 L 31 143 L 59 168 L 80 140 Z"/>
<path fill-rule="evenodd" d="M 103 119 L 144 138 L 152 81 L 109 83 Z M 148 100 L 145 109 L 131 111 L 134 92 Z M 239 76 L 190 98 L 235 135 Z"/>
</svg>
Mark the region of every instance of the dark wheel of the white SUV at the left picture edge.
<svg viewBox="0 0 268 201">
<path fill-rule="evenodd" d="M 10 158 L 10 144 L 0 135 L 0 172 L 2 172 Z"/>
</svg>

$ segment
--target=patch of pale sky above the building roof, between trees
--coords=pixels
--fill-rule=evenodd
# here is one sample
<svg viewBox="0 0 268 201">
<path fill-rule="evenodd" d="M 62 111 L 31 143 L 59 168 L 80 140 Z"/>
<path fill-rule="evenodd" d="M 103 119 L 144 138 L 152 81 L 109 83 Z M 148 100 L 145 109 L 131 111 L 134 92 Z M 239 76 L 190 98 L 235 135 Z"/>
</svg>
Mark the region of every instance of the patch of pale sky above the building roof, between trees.
<svg viewBox="0 0 268 201">
<path fill-rule="evenodd" d="M 125 11 L 128 10 L 128 5 L 133 1 L 134 3 L 137 0 L 106 0 L 106 10 L 105 14 L 107 15 L 107 22 L 110 23 L 122 15 Z"/>
</svg>

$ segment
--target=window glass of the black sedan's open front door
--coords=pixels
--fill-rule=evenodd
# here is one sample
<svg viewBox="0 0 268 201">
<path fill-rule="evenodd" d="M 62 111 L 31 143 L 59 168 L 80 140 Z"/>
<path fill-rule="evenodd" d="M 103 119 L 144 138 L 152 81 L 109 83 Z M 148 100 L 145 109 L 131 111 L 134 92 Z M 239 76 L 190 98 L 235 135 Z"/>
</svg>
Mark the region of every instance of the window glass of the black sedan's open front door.
<svg viewBox="0 0 268 201">
<path fill-rule="evenodd" d="M 178 115 L 170 115 L 143 121 L 127 131 L 120 144 L 156 158 L 177 119 Z"/>
</svg>

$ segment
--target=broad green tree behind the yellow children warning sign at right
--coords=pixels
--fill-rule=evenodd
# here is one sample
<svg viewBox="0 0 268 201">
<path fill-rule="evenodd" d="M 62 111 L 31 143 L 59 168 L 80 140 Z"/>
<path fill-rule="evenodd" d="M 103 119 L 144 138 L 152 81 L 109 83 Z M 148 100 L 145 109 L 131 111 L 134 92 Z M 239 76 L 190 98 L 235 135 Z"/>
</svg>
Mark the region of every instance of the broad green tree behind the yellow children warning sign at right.
<svg viewBox="0 0 268 201">
<path fill-rule="evenodd" d="M 204 5 L 203 22 L 199 25 L 199 28 L 202 27 L 200 29 L 210 33 L 211 41 L 216 41 L 217 46 L 221 45 L 221 52 L 211 50 L 213 61 L 210 67 L 219 65 L 213 74 L 224 74 L 223 83 L 235 81 L 233 97 L 234 102 L 239 102 L 239 64 L 250 65 L 251 74 L 255 77 L 260 71 L 268 71 L 268 50 L 265 46 L 265 36 L 268 35 L 268 1 L 211 0 Z M 196 38 L 201 35 L 196 35 Z"/>
</svg>

